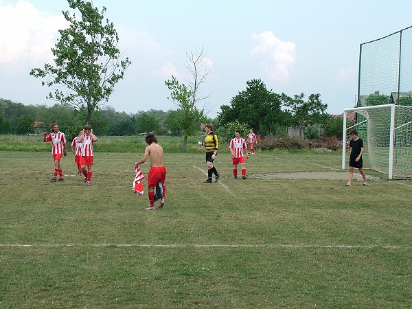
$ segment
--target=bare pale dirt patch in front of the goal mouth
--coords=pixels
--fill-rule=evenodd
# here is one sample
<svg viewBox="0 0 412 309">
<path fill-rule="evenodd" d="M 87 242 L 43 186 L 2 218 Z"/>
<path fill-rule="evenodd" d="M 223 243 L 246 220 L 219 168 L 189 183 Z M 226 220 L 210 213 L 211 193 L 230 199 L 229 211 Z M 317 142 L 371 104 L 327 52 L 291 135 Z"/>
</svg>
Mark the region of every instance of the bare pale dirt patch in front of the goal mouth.
<svg viewBox="0 0 412 309">
<path fill-rule="evenodd" d="M 347 180 L 348 176 L 349 176 L 348 172 L 297 172 L 297 173 L 253 174 L 253 178 L 258 178 L 258 179 Z M 354 179 L 362 180 L 362 175 L 358 173 L 354 173 Z"/>
</svg>

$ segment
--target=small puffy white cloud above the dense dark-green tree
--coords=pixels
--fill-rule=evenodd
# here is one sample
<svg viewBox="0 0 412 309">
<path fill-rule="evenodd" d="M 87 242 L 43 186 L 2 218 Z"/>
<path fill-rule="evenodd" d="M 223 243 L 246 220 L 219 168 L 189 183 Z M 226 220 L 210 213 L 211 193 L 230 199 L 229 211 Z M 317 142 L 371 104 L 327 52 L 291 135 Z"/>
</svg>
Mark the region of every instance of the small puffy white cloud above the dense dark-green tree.
<svg viewBox="0 0 412 309">
<path fill-rule="evenodd" d="M 251 56 L 260 57 L 261 69 L 275 81 L 286 81 L 290 77 L 296 59 L 296 46 L 292 42 L 283 42 L 271 31 L 252 34 L 254 46 Z"/>
</svg>

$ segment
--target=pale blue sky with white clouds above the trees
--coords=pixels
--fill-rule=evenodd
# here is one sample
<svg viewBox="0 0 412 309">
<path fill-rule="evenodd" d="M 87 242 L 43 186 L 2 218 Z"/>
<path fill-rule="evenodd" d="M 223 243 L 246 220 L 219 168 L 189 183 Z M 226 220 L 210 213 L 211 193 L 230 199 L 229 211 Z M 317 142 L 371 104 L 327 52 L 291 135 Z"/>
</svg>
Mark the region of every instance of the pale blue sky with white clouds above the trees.
<svg viewBox="0 0 412 309">
<path fill-rule="evenodd" d="M 361 43 L 412 25 L 411 0 L 93 0 L 119 34 L 133 62 L 105 106 L 135 114 L 169 111 L 165 80 L 187 85 L 187 55 L 203 48 L 210 66 L 198 103 L 211 118 L 220 106 L 260 79 L 266 89 L 293 96 L 320 93 L 330 114 L 353 107 Z M 54 64 L 51 49 L 67 27 L 67 0 L 0 0 L 0 98 L 47 100 L 30 70 Z M 399 17 L 397 17 L 399 16 Z"/>
</svg>

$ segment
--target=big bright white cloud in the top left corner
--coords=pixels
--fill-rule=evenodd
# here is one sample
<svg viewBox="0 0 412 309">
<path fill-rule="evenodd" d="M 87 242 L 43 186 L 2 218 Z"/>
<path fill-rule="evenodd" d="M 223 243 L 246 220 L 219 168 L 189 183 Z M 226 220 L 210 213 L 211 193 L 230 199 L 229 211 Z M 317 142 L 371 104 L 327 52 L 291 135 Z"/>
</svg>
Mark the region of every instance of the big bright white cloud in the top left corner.
<svg viewBox="0 0 412 309">
<path fill-rule="evenodd" d="M 1 6 L 0 65 L 51 60 L 58 29 L 65 27 L 67 21 L 61 14 L 41 13 L 28 1 Z"/>
</svg>

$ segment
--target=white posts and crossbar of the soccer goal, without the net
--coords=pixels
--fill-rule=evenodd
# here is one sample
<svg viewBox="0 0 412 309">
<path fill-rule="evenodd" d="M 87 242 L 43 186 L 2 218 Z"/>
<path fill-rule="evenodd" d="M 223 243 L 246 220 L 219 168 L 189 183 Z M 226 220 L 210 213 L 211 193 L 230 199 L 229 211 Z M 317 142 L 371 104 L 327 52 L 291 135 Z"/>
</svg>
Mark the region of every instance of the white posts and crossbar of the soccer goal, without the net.
<svg viewBox="0 0 412 309">
<path fill-rule="evenodd" d="M 349 111 L 368 111 L 370 109 L 373 108 L 390 108 L 391 111 L 391 115 L 390 115 L 390 130 L 389 130 L 389 166 L 388 166 L 388 178 L 389 179 L 393 179 L 393 152 L 394 152 L 394 139 L 395 139 L 395 131 L 398 128 L 401 128 L 403 126 L 407 126 L 409 124 L 412 123 L 412 120 L 402 124 L 398 127 L 395 127 L 395 114 L 396 114 L 396 106 L 400 106 L 400 105 L 396 105 L 396 104 L 383 104 L 383 105 L 376 105 L 376 106 L 365 106 L 365 107 L 356 107 L 356 108 L 345 108 L 344 112 L 343 112 L 343 136 L 342 136 L 342 170 L 345 170 L 345 163 L 346 163 L 346 136 L 347 136 L 347 130 L 349 130 L 350 128 L 353 128 L 355 126 L 358 126 L 361 123 L 356 123 L 354 124 L 354 126 L 350 126 L 349 128 L 347 128 L 347 112 Z M 412 106 L 402 106 L 402 107 L 406 107 L 406 108 L 412 108 Z M 368 119 L 365 120 L 365 122 L 367 122 Z M 367 131 L 367 135 L 369 135 L 369 131 Z"/>
</svg>

